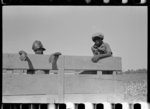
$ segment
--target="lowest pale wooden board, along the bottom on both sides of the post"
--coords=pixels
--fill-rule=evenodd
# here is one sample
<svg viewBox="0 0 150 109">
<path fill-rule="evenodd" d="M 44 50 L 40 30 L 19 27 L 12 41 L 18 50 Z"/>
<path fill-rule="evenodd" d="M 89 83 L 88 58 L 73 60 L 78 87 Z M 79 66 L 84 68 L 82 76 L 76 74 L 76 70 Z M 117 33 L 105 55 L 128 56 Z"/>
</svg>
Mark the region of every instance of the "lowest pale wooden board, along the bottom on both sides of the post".
<svg viewBox="0 0 150 109">
<path fill-rule="evenodd" d="M 3 103 L 59 103 L 58 95 L 2 96 Z M 111 94 L 64 94 L 64 103 L 124 102 L 123 97 Z"/>
</svg>

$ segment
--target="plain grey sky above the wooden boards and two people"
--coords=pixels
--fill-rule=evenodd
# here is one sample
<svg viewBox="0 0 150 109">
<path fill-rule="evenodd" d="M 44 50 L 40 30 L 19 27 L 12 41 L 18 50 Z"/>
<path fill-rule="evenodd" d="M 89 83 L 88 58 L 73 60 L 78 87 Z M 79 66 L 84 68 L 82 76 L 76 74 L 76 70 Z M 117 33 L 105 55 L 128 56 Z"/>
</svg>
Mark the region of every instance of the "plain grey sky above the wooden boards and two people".
<svg viewBox="0 0 150 109">
<path fill-rule="evenodd" d="M 40 40 L 44 54 L 93 56 L 92 35 L 104 34 L 122 70 L 147 68 L 146 6 L 3 6 L 3 53 L 34 54 Z"/>
</svg>

